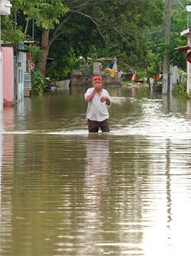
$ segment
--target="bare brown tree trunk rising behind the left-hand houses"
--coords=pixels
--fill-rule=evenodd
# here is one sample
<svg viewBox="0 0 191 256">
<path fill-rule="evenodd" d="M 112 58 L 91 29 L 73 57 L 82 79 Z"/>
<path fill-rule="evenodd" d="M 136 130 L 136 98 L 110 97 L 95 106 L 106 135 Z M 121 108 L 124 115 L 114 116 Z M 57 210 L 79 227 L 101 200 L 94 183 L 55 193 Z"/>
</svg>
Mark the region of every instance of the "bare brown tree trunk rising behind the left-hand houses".
<svg viewBox="0 0 191 256">
<path fill-rule="evenodd" d="M 49 52 L 49 29 L 43 28 L 41 37 L 41 50 L 44 52 L 44 60 L 42 61 L 42 72 L 46 73 L 47 56 Z"/>
</svg>

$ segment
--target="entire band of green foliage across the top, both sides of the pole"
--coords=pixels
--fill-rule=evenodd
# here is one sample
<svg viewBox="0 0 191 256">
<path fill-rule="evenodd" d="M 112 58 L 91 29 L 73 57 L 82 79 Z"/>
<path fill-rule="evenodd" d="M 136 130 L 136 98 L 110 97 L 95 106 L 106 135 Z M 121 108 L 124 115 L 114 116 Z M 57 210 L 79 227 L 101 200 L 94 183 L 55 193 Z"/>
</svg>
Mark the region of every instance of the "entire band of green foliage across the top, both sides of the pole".
<svg viewBox="0 0 191 256">
<path fill-rule="evenodd" d="M 173 3 L 170 63 L 185 70 L 185 54 L 175 50 L 186 44 L 186 37 L 180 37 L 186 29 L 186 0 L 181 2 L 182 6 Z M 119 70 L 134 68 L 138 73 L 145 72 L 147 61 L 151 76 L 160 71 L 165 47 L 163 0 L 14 0 L 12 5 L 23 31 L 26 21 L 34 19 L 36 41 L 42 29 L 50 29 L 49 57 L 56 63 L 51 77 L 70 76 L 79 67 L 79 56 L 117 57 Z"/>
</svg>

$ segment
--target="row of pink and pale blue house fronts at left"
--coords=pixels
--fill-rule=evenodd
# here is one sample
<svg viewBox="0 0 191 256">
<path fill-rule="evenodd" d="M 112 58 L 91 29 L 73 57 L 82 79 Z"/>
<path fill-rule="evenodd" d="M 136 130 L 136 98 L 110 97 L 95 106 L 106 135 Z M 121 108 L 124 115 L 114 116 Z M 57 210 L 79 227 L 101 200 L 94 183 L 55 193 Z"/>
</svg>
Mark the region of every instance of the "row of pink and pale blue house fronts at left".
<svg viewBox="0 0 191 256">
<path fill-rule="evenodd" d="M 2 101 L 3 106 L 31 96 L 31 56 L 24 44 L 2 45 Z"/>
</svg>

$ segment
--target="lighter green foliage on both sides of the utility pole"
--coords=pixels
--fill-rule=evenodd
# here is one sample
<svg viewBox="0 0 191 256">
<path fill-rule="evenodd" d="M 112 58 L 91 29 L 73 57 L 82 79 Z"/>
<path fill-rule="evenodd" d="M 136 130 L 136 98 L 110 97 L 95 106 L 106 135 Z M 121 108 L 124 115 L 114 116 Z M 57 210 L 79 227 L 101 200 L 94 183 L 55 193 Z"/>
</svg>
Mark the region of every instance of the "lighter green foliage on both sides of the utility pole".
<svg viewBox="0 0 191 256">
<path fill-rule="evenodd" d="M 173 9 L 171 13 L 171 30 L 170 30 L 170 63 L 174 66 L 178 66 L 179 68 L 186 70 L 186 52 L 180 52 L 177 50 L 177 47 L 183 46 L 187 44 L 187 37 L 181 37 L 180 33 L 187 28 L 186 24 L 186 1 L 181 1 L 183 5 L 180 5 L 178 2 L 172 2 Z M 147 31 L 147 48 L 149 52 L 153 55 L 153 60 L 157 64 L 163 61 L 163 53 L 164 53 L 164 34 L 163 34 L 163 23 L 158 25 L 157 27 L 151 28 L 150 31 Z M 153 63 L 151 60 L 151 53 L 149 53 L 149 70 L 151 73 L 154 70 L 157 71 L 157 65 Z M 155 56 L 156 55 L 156 56 Z M 155 61 L 156 60 L 156 61 Z M 154 67 L 155 66 L 155 67 Z"/>
</svg>

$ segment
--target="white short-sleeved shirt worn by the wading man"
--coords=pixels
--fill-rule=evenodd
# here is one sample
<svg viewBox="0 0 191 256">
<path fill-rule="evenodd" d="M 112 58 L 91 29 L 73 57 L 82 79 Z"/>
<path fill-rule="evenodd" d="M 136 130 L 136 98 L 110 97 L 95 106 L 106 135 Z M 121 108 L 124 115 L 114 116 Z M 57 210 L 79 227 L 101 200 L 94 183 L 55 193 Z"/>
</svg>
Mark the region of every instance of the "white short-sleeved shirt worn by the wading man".
<svg viewBox="0 0 191 256">
<path fill-rule="evenodd" d="M 87 97 L 92 93 L 93 90 L 93 88 L 89 88 L 87 90 L 87 92 L 85 93 L 85 99 L 87 99 Z M 98 95 L 98 93 L 95 93 L 95 96 L 92 98 L 92 100 L 88 102 L 86 119 L 97 122 L 102 122 L 105 119 L 108 119 L 108 105 L 106 104 L 106 102 L 100 101 L 102 96 L 107 96 L 108 99 L 110 99 L 108 91 L 105 89 L 102 89 L 100 95 Z"/>
</svg>

